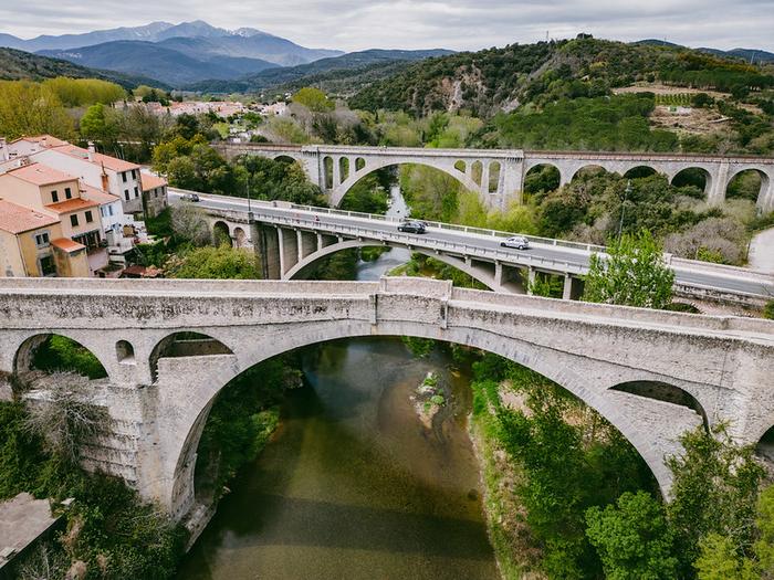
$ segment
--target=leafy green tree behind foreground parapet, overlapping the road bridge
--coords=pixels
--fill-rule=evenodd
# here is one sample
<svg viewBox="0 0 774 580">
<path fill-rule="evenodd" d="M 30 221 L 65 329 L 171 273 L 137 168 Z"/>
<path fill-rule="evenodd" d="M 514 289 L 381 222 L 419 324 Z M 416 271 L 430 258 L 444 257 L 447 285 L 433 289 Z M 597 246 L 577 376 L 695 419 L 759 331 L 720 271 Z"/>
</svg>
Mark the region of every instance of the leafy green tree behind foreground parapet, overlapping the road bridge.
<svg viewBox="0 0 774 580">
<path fill-rule="evenodd" d="M 592 254 L 584 299 L 605 304 L 663 308 L 672 298 L 672 272 L 650 232 L 611 240 L 607 255 Z"/>
</svg>

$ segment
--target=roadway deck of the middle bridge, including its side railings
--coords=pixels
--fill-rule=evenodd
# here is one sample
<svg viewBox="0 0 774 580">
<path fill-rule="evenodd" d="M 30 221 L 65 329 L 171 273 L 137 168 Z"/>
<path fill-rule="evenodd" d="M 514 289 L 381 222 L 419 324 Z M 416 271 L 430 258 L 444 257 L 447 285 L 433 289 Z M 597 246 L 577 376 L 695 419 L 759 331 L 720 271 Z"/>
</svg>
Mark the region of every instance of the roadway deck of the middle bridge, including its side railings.
<svg viewBox="0 0 774 580">
<path fill-rule="evenodd" d="M 180 203 L 184 190 L 169 189 L 170 203 Z M 215 212 L 237 212 L 247 223 L 248 201 L 242 198 L 199 194 L 198 207 Z M 359 238 L 374 241 L 372 245 L 399 245 L 428 253 L 450 254 L 466 260 L 481 260 L 535 271 L 583 276 L 588 272 L 592 253 L 603 246 L 562 240 L 527 236 L 532 246 L 526 251 L 500 246 L 506 232 L 428 222 L 425 234 L 397 231 L 399 219 L 327 208 L 312 208 L 278 202 L 252 201 L 254 220 L 278 226 L 295 228 L 317 233 Z M 368 245 L 364 243 L 363 245 Z M 720 294 L 738 302 L 762 304 L 774 297 L 774 275 L 747 268 L 681 260 L 667 255 L 676 273 L 678 292 L 688 295 Z M 504 286 L 508 288 L 508 285 Z M 500 289 L 500 288 L 498 288 Z M 510 288 L 509 288 L 510 289 Z"/>
</svg>

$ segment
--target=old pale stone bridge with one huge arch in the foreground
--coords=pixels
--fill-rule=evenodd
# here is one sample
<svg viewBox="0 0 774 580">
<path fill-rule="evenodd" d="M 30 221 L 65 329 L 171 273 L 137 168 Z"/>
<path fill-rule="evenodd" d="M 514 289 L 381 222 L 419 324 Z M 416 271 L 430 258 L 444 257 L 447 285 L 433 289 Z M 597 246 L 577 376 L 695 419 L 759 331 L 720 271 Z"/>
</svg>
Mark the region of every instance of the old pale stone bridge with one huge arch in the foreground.
<svg viewBox="0 0 774 580">
<path fill-rule="evenodd" d="M 185 334 L 180 334 L 185 333 Z M 197 335 L 192 337 L 191 333 Z M 104 366 L 90 400 L 112 432 L 86 463 L 196 520 L 195 465 L 215 398 L 271 357 L 347 337 L 432 338 L 494 352 L 610 421 L 652 470 L 697 425 L 742 443 L 774 430 L 774 323 L 460 289 L 446 281 L 0 280 L 0 391 L 56 334 Z M 34 394 L 34 393 L 33 393 Z"/>
</svg>

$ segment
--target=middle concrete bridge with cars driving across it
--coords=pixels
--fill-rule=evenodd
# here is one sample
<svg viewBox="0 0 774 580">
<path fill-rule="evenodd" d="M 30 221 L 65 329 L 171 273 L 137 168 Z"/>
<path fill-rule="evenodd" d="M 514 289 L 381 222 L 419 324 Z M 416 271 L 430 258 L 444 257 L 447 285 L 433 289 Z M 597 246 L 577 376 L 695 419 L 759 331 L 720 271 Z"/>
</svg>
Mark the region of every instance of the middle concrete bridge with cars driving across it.
<svg viewBox="0 0 774 580">
<path fill-rule="evenodd" d="M 170 203 L 180 203 L 185 193 L 170 188 Z M 228 236 L 233 245 L 254 247 L 266 280 L 303 280 L 320 260 L 342 250 L 393 246 L 440 260 L 496 292 L 523 292 L 524 277 L 532 282 L 537 273 L 558 274 L 564 277 L 564 297 L 577 298 L 590 255 L 605 251 L 537 236 L 529 236 L 529 251 L 516 251 L 500 246 L 510 235 L 505 232 L 429 222 L 428 232 L 417 235 L 398 232 L 398 219 L 285 202 L 253 201 L 251 222 L 244 199 L 199 197 L 196 205 L 206 213 L 213 232 Z M 752 306 L 774 297 L 774 274 L 672 256 L 667 260 L 676 272 L 679 295 Z"/>
</svg>

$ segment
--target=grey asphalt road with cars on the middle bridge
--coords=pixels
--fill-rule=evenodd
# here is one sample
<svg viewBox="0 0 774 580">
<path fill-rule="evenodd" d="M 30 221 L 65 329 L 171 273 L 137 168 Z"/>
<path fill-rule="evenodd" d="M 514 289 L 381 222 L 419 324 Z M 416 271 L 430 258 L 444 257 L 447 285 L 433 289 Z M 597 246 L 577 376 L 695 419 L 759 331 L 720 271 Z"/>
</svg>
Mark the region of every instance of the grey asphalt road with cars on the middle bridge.
<svg viewBox="0 0 774 580">
<path fill-rule="evenodd" d="M 180 190 L 169 190 L 170 203 L 180 202 Z M 226 196 L 200 194 L 200 202 L 197 204 L 202 209 L 226 210 L 247 212 L 248 201 L 242 198 L 231 198 Z M 255 214 L 255 219 L 261 221 L 260 215 L 268 219 L 275 218 L 278 220 L 287 220 L 289 226 L 301 225 L 323 232 L 335 232 L 342 228 L 358 228 L 367 230 L 369 236 L 373 235 L 377 240 L 385 236 L 390 236 L 393 241 L 396 235 L 399 235 L 400 242 L 406 245 L 417 247 L 436 249 L 438 245 L 459 244 L 467 246 L 467 255 L 477 257 L 477 252 L 480 252 L 482 259 L 487 259 L 487 253 L 498 252 L 498 260 L 504 264 L 523 266 L 529 265 L 529 260 L 545 261 L 554 263 L 559 271 L 566 271 L 573 274 L 585 273 L 588 268 L 589 257 L 592 252 L 585 247 L 585 244 L 576 244 L 577 247 L 565 247 L 563 245 L 554 245 L 553 242 L 563 244 L 562 241 L 538 241 L 532 242 L 530 250 L 519 251 L 504 249 L 500 246 L 501 238 L 495 235 L 487 235 L 471 231 L 449 230 L 453 228 L 443 224 L 444 228 L 433 226 L 431 224 L 425 234 L 398 233 L 397 221 L 387 221 L 384 219 L 368 219 L 365 214 L 352 214 L 337 211 L 328 213 L 327 209 L 321 208 L 314 211 L 312 208 L 301 209 L 301 207 L 273 207 L 270 202 L 252 202 L 251 209 Z M 318 221 L 317 221 L 318 220 Z M 473 229 L 475 230 L 475 229 Z M 532 236 L 530 236 L 534 240 Z M 459 254 L 456 251 L 450 251 L 452 254 Z M 527 260 L 529 259 L 529 260 Z M 566 264 L 566 267 L 562 265 Z M 540 266 L 536 266 L 540 268 Z M 550 270 L 548 266 L 545 266 Z M 714 266 L 708 263 L 698 263 L 690 261 L 680 261 L 679 265 L 673 265 L 676 282 L 680 285 L 688 285 L 699 288 L 711 288 L 719 292 L 743 294 L 757 297 L 774 298 L 774 276 L 765 276 L 761 273 L 746 272 L 743 268 L 732 268 L 726 266 Z"/>
</svg>

